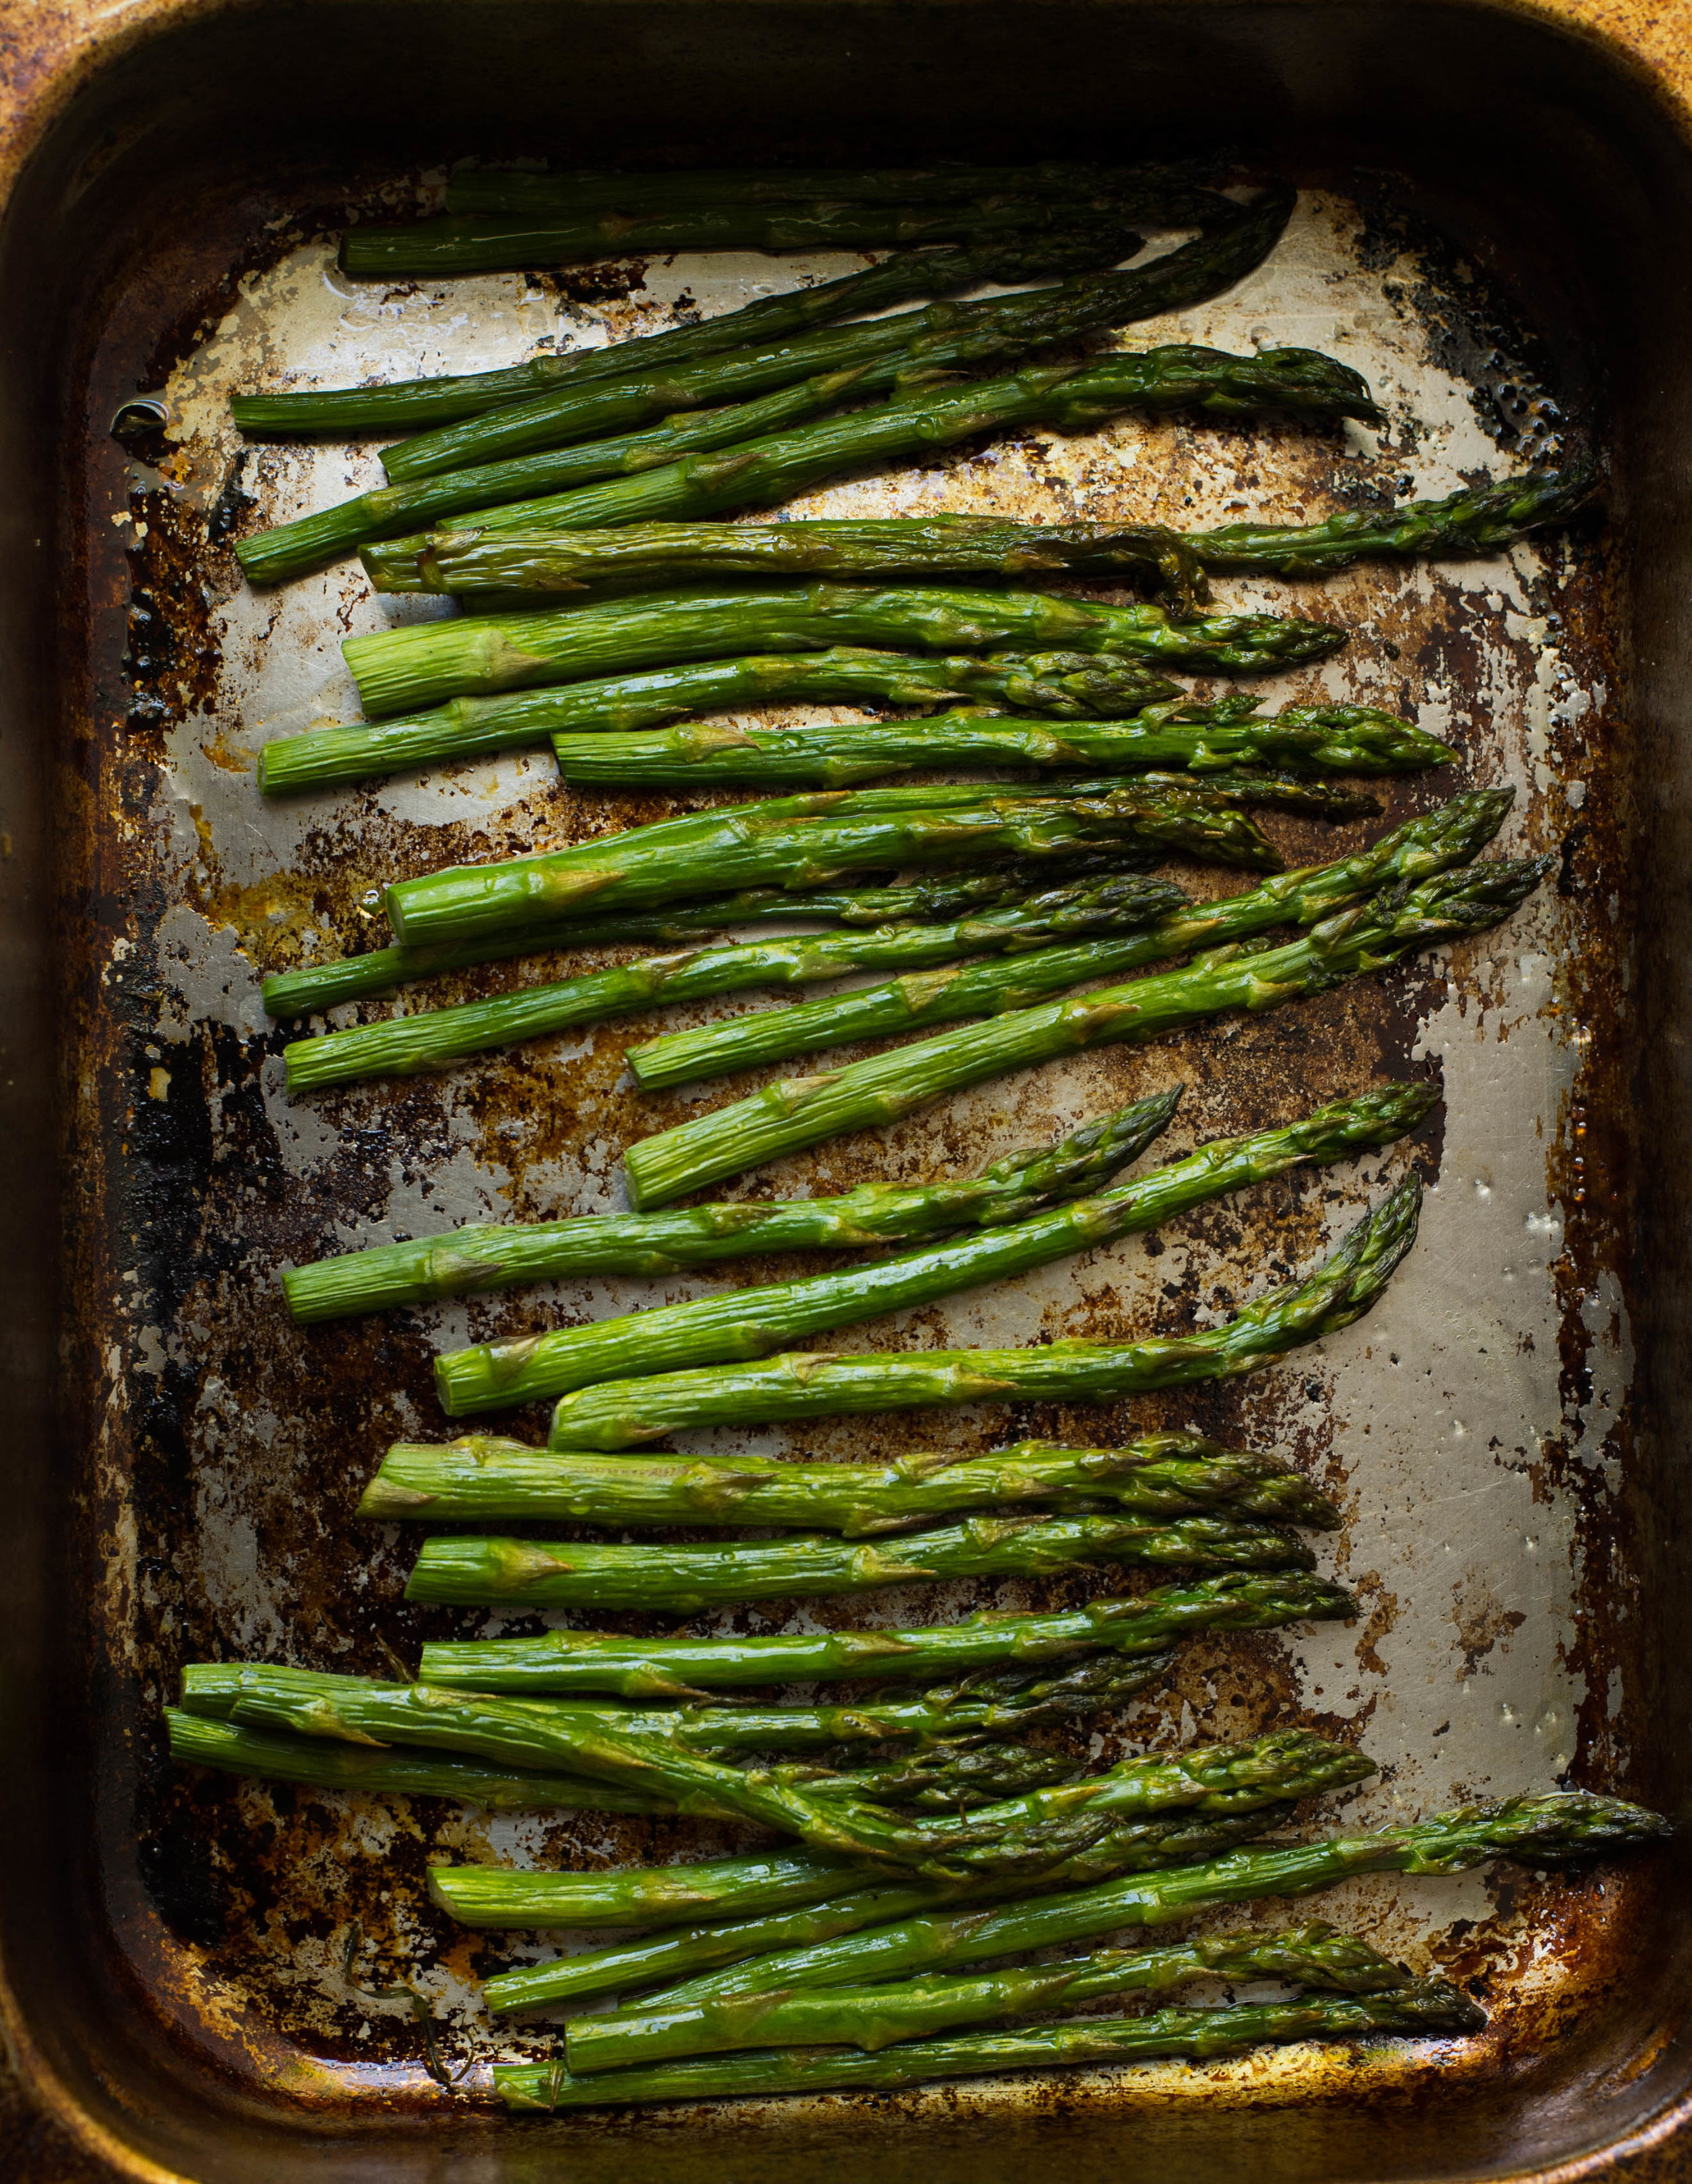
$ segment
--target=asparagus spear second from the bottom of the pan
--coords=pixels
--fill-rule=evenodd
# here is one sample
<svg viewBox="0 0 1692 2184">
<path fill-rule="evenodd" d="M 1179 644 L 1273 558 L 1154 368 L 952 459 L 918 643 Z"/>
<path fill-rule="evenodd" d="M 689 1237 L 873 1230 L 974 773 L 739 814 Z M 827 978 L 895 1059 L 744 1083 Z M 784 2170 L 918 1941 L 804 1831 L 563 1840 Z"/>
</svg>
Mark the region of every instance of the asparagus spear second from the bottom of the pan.
<svg viewBox="0 0 1692 2184">
<path fill-rule="evenodd" d="M 1384 1994 L 1408 1972 L 1327 1924 L 1290 1933 L 1231 1933 L 1164 1948 L 1109 1948 L 1020 1970 L 934 1974 L 882 1987 L 797 1987 L 723 2001 L 648 2005 L 613 2016 L 572 2018 L 572 2075 L 714 2055 L 758 2046 L 854 2046 L 878 2053 L 958 2025 L 1006 2022 L 1044 2009 L 1096 2003 L 1105 1994 L 1157 1994 L 1192 1979 L 1286 1979 L 1341 1994 Z"/>
</svg>

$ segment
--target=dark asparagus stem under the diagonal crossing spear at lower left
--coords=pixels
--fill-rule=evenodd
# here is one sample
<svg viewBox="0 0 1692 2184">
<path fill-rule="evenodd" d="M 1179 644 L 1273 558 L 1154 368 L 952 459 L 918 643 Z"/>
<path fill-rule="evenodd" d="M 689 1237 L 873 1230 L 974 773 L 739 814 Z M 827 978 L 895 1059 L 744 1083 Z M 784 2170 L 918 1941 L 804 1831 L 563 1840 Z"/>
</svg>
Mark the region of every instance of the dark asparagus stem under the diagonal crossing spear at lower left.
<svg viewBox="0 0 1692 2184">
<path fill-rule="evenodd" d="M 266 1776 L 310 1789 L 351 1789 L 391 1797 L 458 1797 L 496 1813 L 574 1806 L 581 1813 L 670 1813 L 644 1789 L 526 1767 L 489 1767 L 443 1752 L 343 1745 L 323 1736 L 273 1736 L 212 1714 L 166 1706 L 170 1758 L 183 1767 Z"/>
</svg>

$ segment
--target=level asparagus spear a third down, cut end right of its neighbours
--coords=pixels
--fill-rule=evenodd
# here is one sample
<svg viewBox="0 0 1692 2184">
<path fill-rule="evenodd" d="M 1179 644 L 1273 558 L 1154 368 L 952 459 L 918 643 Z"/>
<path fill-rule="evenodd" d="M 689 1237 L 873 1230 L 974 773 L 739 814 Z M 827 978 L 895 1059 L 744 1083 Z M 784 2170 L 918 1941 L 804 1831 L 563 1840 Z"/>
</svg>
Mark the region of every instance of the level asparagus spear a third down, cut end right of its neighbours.
<svg viewBox="0 0 1692 2184">
<path fill-rule="evenodd" d="M 668 734 L 559 734 L 552 736 L 552 756 L 568 782 L 633 782 L 642 788 L 703 788 L 707 782 L 845 788 L 913 767 L 1188 767 L 1203 773 L 1227 762 L 1268 762 L 1408 773 L 1443 767 L 1452 758 L 1437 736 L 1369 705 L 1286 705 L 1271 721 L 1251 719 L 1255 712 L 1258 699 L 1247 697 L 1216 705 L 1177 699 L 1109 727 L 980 712 L 755 729 L 734 721 L 694 721 Z"/>
</svg>

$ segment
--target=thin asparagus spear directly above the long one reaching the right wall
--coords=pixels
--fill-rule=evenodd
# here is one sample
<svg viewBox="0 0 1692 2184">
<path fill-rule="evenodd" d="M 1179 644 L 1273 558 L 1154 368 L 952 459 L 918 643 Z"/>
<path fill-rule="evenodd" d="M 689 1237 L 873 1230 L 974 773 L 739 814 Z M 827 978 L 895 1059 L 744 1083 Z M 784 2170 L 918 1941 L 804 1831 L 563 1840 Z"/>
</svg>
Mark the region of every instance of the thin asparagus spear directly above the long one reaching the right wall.
<svg viewBox="0 0 1692 2184">
<path fill-rule="evenodd" d="M 886 1867 L 856 1880 L 845 1894 L 825 1896 L 797 1909 L 771 1911 L 762 1918 L 729 1920 L 710 1926 L 686 1926 L 677 1933 L 638 1942 L 613 1942 L 607 1948 L 579 1950 L 574 1957 L 552 1957 L 498 1972 L 482 1985 L 482 2001 L 496 2014 L 511 2009 L 544 2009 L 576 2003 L 585 1994 L 616 1994 L 675 1979 L 679 1972 L 716 1970 L 771 1950 L 793 1950 L 882 1926 L 889 1920 L 937 1911 L 948 1904 L 985 1904 L 1020 1896 L 1030 1885 L 1081 1887 L 1111 1874 L 1144 1874 L 1161 1865 L 1183 1865 L 1190 1859 L 1214 1859 L 1220 1850 L 1253 1841 L 1292 1815 L 1290 1804 L 1266 1804 L 1255 1813 L 1207 1815 L 1170 1813 L 1159 1819 L 1131 1821 L 1074 1850 L 1037 1876 L 987 1874 L 972 1880 L 919 1880 L 910 1874 L 886 1878 Z M 836 1865 L 836 1872 L 843 1867 Z"/>
</svg>

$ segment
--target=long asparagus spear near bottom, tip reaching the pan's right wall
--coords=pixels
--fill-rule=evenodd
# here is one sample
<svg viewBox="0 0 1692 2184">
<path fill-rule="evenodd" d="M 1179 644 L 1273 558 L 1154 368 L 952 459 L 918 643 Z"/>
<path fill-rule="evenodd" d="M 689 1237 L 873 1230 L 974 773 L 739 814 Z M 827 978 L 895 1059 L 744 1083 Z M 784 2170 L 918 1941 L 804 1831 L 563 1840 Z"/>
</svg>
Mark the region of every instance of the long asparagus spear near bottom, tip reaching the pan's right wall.
<svg viewBox="0 0 1692 2184">
<path fill-rule="evenodd" d="M 753 1957 L 670 1987 L 662 2001 L 696 2003 L 775 1987 L 871 1985 L 932 1966 L 987 1963 L 1065 1942 L 1092 1942 L 1124 1926 L 1168 1926 L 1194 1911 L 1310 1896 L 1356 1874 L 1463 1874 L 1491 1859 L 1561 1865 L 1664 1841 L 1670 1824 L 1618 1797 L 1557 1791 L 1467 1804 L 1406 1828 L 1336 1835 L 1314 1843 L 1234 1850 L 1203 1865 L 1146 1878 L 1103 1880 L 987 1913 L 902 1920 L 784 1955 Z"/>
</svg>

